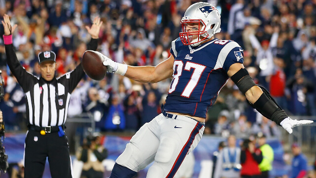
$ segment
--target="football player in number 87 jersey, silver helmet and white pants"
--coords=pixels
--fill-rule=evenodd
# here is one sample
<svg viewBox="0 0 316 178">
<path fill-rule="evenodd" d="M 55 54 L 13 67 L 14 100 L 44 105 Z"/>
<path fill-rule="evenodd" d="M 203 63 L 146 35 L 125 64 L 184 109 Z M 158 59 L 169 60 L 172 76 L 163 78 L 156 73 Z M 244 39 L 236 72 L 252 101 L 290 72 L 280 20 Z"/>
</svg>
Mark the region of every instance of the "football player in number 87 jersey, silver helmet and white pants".
<svg viewBox="0 0 316 178">
<path fill-rule="evenodd" d="M 207 108 L 231 78 L 249 103 L 287 132 L 313 121 L 292 120 L 257 86 L 243 63 L 243 49 L 234 41 L 215 39 L 221 31 L 218 10 L 211 4 L 191 5 L 181 20 L 183 32 L 171 44 L 172 55 L 156 67 L 119 64 L 102 55 L 108 72 L 143 83 L 173 77 L 162 113 L 130 139 L 110 178 L 132 178 L 154 161 L 147 178 L 173 178 L 185 156 L 202 137 Z"/>
</svg>

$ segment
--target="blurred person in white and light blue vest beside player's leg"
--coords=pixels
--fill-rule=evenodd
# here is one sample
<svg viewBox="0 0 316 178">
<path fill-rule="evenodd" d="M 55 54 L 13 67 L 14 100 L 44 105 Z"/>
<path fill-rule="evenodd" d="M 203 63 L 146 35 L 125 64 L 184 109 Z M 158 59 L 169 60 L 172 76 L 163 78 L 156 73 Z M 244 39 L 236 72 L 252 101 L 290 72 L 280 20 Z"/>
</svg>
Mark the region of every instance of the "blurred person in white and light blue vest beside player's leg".
<svg viewBox="0 0 316 178">
<path fill-rule="evenodd" d="M 235 135 L 228 137 L 228 146 L 220 151 L 214 172 L 214 178 L 239 178 L 240 148 L 236 146 Z"/>
</svg>

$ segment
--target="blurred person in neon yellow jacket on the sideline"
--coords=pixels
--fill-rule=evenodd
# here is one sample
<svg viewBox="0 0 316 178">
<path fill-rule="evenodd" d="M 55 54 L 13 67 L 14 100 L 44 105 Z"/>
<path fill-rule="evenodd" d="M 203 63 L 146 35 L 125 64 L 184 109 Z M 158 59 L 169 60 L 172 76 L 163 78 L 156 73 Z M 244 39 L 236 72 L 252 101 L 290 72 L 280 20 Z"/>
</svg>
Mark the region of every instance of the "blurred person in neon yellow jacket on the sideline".
<svg viewBox="0 0 316 178">
<path fill-rule="evenodd" d="M 261 178 L 269 178 L 269 172 L 272 170 L 272 162 L 274 160 L 274 152 L 272 147 L 267 143 L 265 134 L 258 133 L 257 141 L 263 156 L 263 159 L 259 164 Z"/>
</svg>

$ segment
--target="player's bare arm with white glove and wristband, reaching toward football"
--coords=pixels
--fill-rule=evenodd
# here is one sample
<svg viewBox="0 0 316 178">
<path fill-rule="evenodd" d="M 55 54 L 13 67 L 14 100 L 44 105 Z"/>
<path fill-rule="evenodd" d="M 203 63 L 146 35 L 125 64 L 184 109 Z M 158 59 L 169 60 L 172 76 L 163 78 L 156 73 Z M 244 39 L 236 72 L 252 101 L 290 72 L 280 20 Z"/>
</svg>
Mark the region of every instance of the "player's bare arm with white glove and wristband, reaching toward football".
<svg viewBox="0 0 316 178">
<path fill-rule="evenodd" d="M 102 54 L 103 55 L 103 54 Z M 130 66 L 114 62 L 112 59 L 103 55 L 103 65 L 107 66 L 107 71 L 123 75 L 127 78 L 133 79 L 142 83 L 157 83 L 172 77 L 173 74 L 173 55 L 156 67 L 154 66 Z"/>
</svg>

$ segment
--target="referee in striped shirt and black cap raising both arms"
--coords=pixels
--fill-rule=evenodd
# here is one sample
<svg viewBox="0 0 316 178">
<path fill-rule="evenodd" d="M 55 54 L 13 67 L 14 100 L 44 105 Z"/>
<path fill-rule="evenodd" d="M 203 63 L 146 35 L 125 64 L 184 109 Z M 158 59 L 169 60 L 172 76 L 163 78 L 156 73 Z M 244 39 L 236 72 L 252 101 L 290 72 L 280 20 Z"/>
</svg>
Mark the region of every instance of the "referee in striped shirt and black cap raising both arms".
<svg viewBox="0 0 316 178">
<path fill-rule="evenodd" d="M 25 138 L 25 178 L 41 178 L 46 157 L 52 178 L 72 178 L 71 159 L 65 122 L 71 92 L 84 76 L 81 63 L 72 72 L 56 78 L 56 55 L 52 51 L 39 54 L 40 78 L 28 73 L 17 60 L 12 45 L 12 34 L 8 15 L 3 16 L 3 41 L 7 64 L 25 92 L 29 131 Z M 96 17 L 91 28 L 86 27 L 92 39 L 88 49 L 97 49 L 97 39 L 102 22 Z"/>
</svg>

